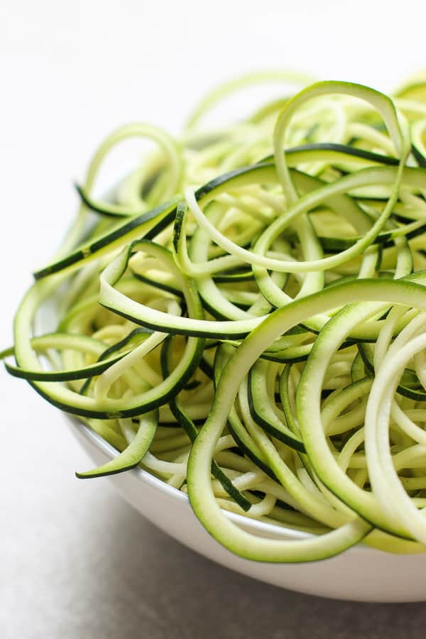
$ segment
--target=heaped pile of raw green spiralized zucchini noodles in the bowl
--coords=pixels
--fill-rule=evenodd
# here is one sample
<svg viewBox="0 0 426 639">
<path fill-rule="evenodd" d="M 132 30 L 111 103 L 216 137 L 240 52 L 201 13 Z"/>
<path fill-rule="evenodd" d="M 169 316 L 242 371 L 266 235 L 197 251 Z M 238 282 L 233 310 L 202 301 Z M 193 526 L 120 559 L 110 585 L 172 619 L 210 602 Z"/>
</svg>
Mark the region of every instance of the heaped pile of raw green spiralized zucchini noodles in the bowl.
<svg viewBox="0 0 426 639">
<path fill-rule="evenodd" d="M 317 82 L 203 129 L 281 80 L 298 82 L 225 84 L 179 139 L 112 133 L 1 356 L 119 452 L 78 476 L 139 464 L 242 557 L 425 552 L 426 82 L 393 99 Z M 104 158 L 138 137 L 158 148 L 97 200 Z M 55 331 L 34 335 L 52 300 Z M 251 535 L 224 510 L 312 534 Z"/>
</svg>

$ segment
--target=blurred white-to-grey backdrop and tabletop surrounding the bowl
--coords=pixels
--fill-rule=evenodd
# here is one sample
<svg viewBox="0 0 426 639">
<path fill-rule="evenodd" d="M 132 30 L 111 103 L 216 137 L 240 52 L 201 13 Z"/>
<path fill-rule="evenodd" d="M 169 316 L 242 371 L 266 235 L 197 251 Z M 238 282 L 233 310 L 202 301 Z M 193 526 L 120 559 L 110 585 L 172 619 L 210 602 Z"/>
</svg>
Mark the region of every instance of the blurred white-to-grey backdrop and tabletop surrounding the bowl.
<svg viewBox="0 0 426 639">
<path fill-rule="evenodd" d="M 205 89 L 250 70 L 289 68 L 392 89 L 426 63 L 424 4 L 396 6 L 3 0 L 1 346 L 11 343 L 31 271 L 53 253 L 75 211 L 72 180 L 111 129 L 141 120 L 177 133 Z M 153 530 L 107 482 L 77 481 L 87 459 L 58 412 L 1 371 L 0 400 L 2 639 L 175 639 L 213 630 L 278 638 L 290 626 L 293 637 L 326 637 L 328 623 L 334 637 L 421 636 L 421 605 L 398 608 L 401 630 L 391 607 L 367 614 L 359 604 L 318 603 L 212 567 Z"/>
</svg>

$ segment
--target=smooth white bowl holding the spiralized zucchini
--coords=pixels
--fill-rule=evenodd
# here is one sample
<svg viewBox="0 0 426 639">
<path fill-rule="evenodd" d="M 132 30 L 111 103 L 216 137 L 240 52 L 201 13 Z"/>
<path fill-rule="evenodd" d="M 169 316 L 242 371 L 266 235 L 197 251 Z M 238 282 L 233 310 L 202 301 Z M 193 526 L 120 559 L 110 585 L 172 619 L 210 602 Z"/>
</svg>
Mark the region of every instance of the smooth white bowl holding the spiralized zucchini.
<svg viewBox="0 0 426 639">
<path fill-rule="evenodd" d="M 104 464 L 117 454 L 102 437 L 75 418 L 67 416 L 67 422 L 95 464 Z M 200 552 L 200 555 L 254 579 L 333 599 L 426 600 L 426 555 L 390 555 L 359 545 L 322 562 L 252 562 L 236 557 L 222 547 L 192 513 L 187 496 L 148 472 L 137 468 L 112 475 L 109 481 L 131 506 L 168 535 Z M 226 516 L 253 534 L 290 540 L 307 536 L 304 532 L 283 529 L 233 513 L 226 513 Z"/>
</svg>

